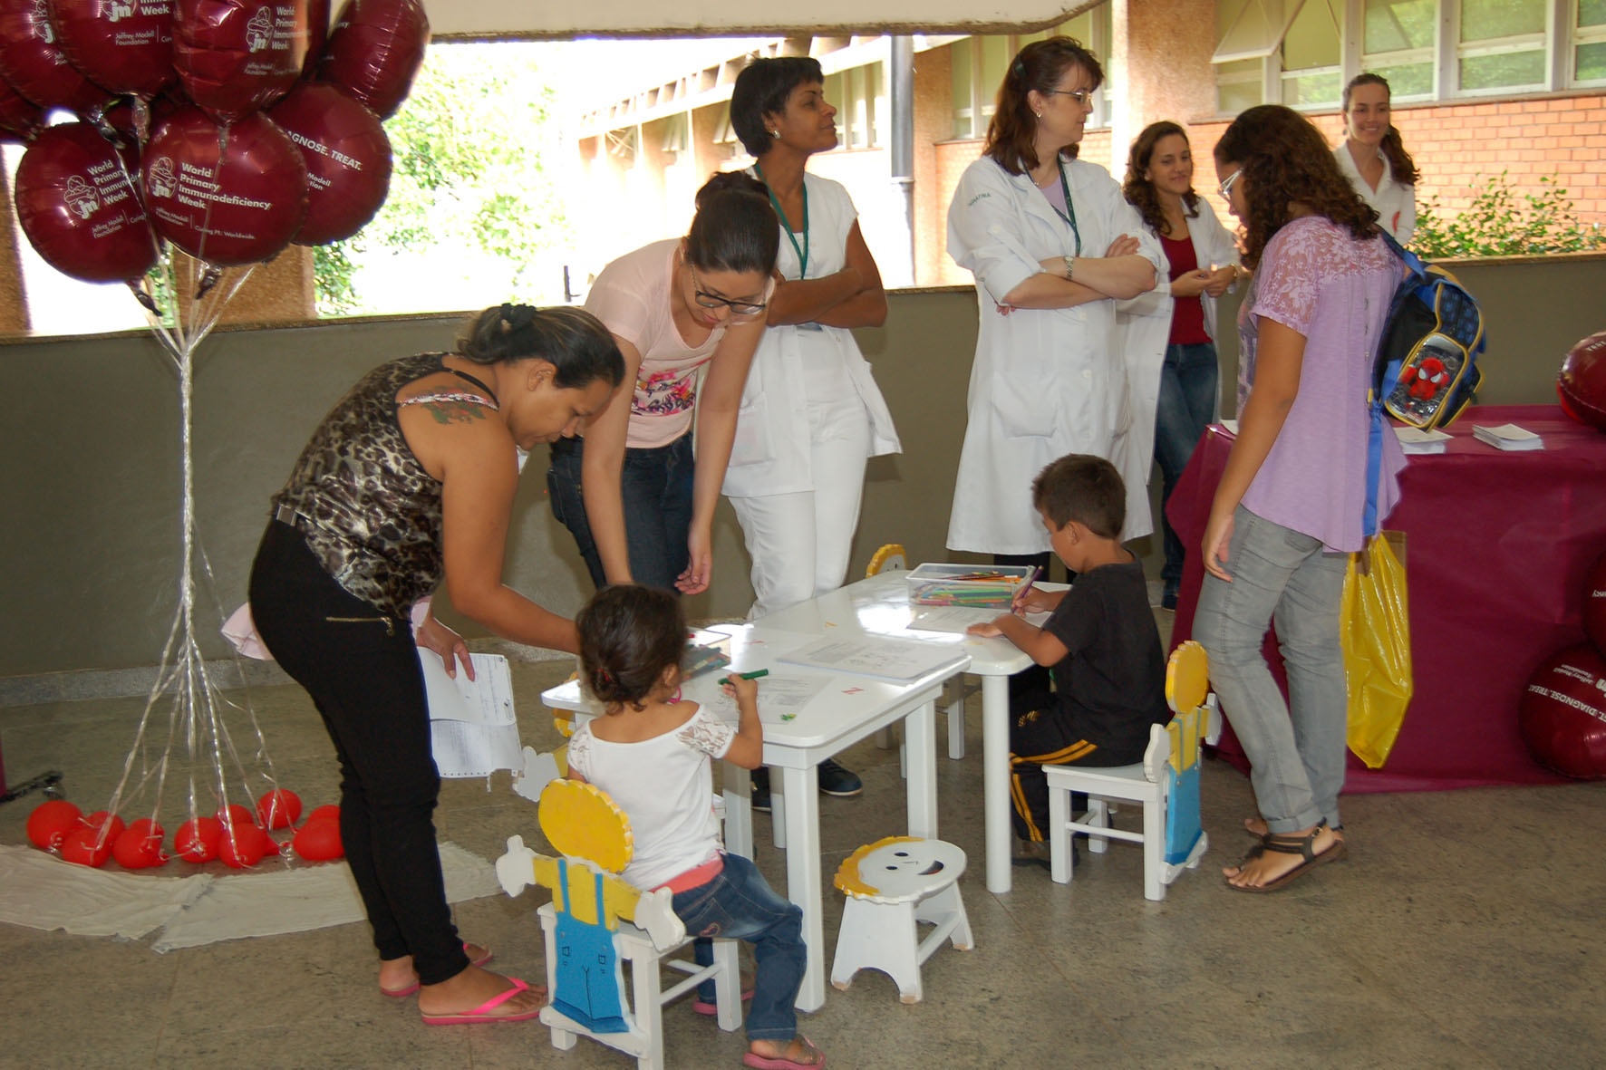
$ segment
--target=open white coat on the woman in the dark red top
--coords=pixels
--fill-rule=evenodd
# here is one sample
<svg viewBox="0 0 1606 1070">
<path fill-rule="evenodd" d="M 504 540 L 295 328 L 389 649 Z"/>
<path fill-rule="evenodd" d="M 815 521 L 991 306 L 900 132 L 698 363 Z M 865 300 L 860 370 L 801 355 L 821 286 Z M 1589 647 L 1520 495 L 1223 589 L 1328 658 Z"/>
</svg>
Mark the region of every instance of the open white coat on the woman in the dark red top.
<svg viewBox="0 0 1606 1070">
<path fill-rule="evenodd" d="M 1238 263 L 1238 244 L 1216 218 L 1209 201 L 1200 198 L 1198 207 L 1198 218 L 1188 220 L 1188 239 L 1193 243 L 1198 265 Z M 1163 247 L 1161 254 L 1164 254 Z M 1217 337 L 1216 299 L 1209 294 L 1200 294 L 1200 302 L 1204 305 L 1204 333 L 1214 342 Z M 1116 304 L 1118 345 L 1126 355 L 1127 389 L 1132 392 L 1132 431 L 1127 435 L 1143 464 L 1145 482 L 1155 459 L 1155 415 L 1160 408 L 1160 373 L 1166 363 L 1166 342 L 1171 339 L 1171 305 L 1169 267 L 1160 268 L 1155 289 Z"/>
</svg>

